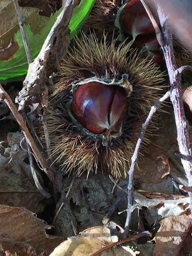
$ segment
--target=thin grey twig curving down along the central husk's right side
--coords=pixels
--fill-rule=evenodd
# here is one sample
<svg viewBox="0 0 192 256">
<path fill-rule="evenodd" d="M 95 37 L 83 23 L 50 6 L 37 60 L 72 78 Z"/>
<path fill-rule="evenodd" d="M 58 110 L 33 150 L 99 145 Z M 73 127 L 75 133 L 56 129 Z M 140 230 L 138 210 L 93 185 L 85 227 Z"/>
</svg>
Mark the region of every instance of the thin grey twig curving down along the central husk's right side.
<svg viewBox="0 0 192 256">
<path fill-rule="evenodd" d="M 160 107 L 160 104 L 169 98 L 171 94 L 171 91 L 167 91 L 166 94 L 164 94 L 162 97 L 160 97 L 157 102 L 154 104 L 154 106 L 151 107 L 150 112 L 148 113 L 147 119 L 145 120 L 144 124 L 142 125 L 142 129 L 140 132 L 140 137 L 137 140 L 137 144 L 135 146 L 134 154 L 131 157 L 131 167 L 128 171 L 129 180 L 128 180 L 128 209 L 127 209 L 127 218 L 125 222 L 125 232 L 123 233 L 123 237 L 126 238 L 130 226 L 131 221 L 131 206 L 134 203 L 134 168 L 137 163 L 137 157 L 140 150 L 140 145 L 142 143 L 143 137 L 145 135 L 145 131 L 148 127 L 149 122 L 151 121 L 152 116 L 157 111 L 157 109 Z"/>
</svg>

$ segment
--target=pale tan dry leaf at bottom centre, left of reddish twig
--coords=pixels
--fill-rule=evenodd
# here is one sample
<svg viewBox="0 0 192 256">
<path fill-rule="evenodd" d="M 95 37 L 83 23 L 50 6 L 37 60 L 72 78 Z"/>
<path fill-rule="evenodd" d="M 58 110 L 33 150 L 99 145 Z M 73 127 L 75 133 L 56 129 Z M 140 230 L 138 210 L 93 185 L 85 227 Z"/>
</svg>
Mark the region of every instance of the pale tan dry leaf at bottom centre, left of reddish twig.
<svg viewBox="0 0 192 256">
<path fill-rule="evenodd" d="M 89 256 L 116 241 L 117 236 L 111 236 L 107 227 L 92 227 L 81 232 L 81 235 L 69 237 L 50 256 Z"/>
</svg>

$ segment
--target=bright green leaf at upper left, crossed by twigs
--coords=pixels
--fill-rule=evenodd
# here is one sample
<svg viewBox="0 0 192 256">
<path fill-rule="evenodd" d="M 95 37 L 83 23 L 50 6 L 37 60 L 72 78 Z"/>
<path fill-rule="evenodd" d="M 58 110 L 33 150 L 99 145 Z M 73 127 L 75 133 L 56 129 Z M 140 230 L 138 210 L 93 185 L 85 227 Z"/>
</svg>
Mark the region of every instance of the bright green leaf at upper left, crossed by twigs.
<svg viewBox="0 0 192 256">
<path fill-rule="evenodd" d="M 73 9 L 69 28 L 71 30 L 71 38 L 78 33 L 87 19 L 95 0 L 81 0 L 79 6 Z M 52 28 L 62 8 L 50 17 L 47 25 L 41 30 L 40 34 L 33 34 L 30 25 L 25 26 L 28 45 L 32 60 L 34 60 L 41 50 L 50 29 Z M 0 61 L 0 83 L 6 84 L 8 81 L 22 80 L 27 73 L 28 63 L 23 45 L 23 39 L 20 30 L 16 33 L 14 41 L 18 44 L 18 50 L 7 61 Z"/>
</svg>

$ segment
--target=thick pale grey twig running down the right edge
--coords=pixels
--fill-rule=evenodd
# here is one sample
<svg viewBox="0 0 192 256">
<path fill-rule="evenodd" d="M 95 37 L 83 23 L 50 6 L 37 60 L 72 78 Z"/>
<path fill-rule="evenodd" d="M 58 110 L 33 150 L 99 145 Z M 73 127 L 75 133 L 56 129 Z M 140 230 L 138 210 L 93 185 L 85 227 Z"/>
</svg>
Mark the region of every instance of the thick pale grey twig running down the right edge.
<svg viewBox="0 0 192 256">
<path fill-rule="evenodd" d="M 141 0 L 145 10 L 148 10 L 148 6 Z M 147 11 L 148 12 L 148 11 Z M 170 99 L 173 105 L 174 114 L 175 114 L 175 123 L 177 128 L 177 142 L 180 150 L 181 163 L 183 164 L 183 168 L 186 172 L 186 176 L 188 178 L 188 186 L 192 186 L 192 152 L 190 148 L 189 142 L 189 129 L 186 123 L 186 117 L 183 108 L 183 96 L 182 96 L 182 86 L 181 86 L 181 72 L 189 69 L 192 70 L 190 66 L 183 66 L 177 69 L 175 55 L 173 50 L 172 43 L 172 31 L 167 23 L 167 17 L 160 6 L 157 4 L 157 13 L 159 16 L 161 29 L 162 29 L 162 37 L 160 40 L 159 35 L 156 34 L 157 40 L 163 50 L 166 66 L 169 74 L 169 80 L 171 83 L 171 95 Z M 154 25 L 155 32 L 157 32 L 157 23 L 154 23 L 154 17 L 151 12 L 148 12 L 148 16 L 151 19 L 151 22 Z M 192 192 L 188 192 L 190 197 L 190 210 L 192 212 Z"/>
</svg>

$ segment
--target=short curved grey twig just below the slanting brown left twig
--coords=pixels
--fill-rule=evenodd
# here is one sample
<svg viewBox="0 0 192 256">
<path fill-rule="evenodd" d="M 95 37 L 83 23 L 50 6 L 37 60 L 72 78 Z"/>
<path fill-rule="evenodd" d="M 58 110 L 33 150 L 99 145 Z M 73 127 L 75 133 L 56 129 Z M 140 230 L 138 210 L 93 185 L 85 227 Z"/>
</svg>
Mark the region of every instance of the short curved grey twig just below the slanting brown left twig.
<svg viewBox="0 0 192 256">
<path fill-rule="evenodd" d="M 38 177 L 35 172 L 31 148 L 29 147 L 28 143 L 26 143 L 26 145 L 27 145 L 28 154 L 29 154 L 29 164 L 30 164 L 30 168 L 31 168 L 31 173 L 32 173 L 35 185 L 36 185 L 38 191 L 41 193 L 41 195 L 43 195 L 45 198 L 50 198 L 51 194 L 49 192 L 47 192 L 46 190 L 44 190 L 43 187 L 41 186 L 41 184 L 39 183 Z"/>
</svg>

